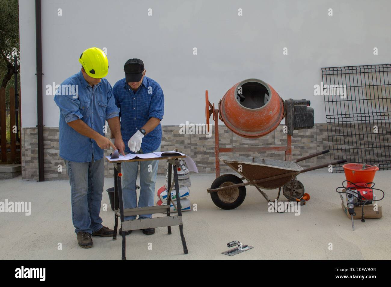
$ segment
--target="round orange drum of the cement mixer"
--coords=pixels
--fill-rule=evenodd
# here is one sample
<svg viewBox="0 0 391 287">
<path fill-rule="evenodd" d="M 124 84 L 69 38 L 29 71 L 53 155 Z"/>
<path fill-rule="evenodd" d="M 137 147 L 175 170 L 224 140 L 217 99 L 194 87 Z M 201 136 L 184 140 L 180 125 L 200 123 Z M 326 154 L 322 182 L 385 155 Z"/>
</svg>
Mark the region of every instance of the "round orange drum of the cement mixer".
<svg viewBox="0 0 391 287">
<path fill-rule="evenodd" d="M 257 138 L 272 132 L 284 118 L 282 98 L 269 84 L 248 79 L 235 84 L 219 103 L 221 120 L 241 137 Z"/>
</svg>

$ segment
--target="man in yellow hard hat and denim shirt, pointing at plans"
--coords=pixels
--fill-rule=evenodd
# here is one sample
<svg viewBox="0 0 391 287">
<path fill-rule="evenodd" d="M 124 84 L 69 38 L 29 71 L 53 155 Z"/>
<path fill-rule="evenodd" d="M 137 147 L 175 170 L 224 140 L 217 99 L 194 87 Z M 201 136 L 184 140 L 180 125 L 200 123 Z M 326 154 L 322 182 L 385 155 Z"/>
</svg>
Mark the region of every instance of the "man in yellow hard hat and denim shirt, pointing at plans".
<svg viewBox="0 0 391 287">
<path fill-rule="evenodd" d="M 72 221 L 79 246 L 90 248 L 91 236 L 112 237 L 102 225 L 100 206 L 104 185 L 105 149 L 124 154 L 119 112 L 106 77 L 109 62 L 99 48 L 88 48 L 79 57 L 82 68 L 57 89 L 54 101 L 60 109 L 59 148 L 71 186 Z M 105 137 L 106 121 L 114 144 Z"/>
</svg>

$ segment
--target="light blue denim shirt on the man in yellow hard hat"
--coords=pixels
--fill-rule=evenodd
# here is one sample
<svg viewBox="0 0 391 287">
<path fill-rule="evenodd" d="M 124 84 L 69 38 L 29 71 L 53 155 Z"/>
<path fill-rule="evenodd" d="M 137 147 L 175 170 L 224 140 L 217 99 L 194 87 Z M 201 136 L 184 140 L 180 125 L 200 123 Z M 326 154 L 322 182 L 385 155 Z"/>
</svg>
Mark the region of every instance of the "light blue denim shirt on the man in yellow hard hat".
<svg viewBox="0 0 391 287">
<path fill-rule="evenodd" d="M 102 78 L 93 88 L 86 82 L 81 71 L 67 78 L 57 89 L 54 101 L 60 108 L 60 157 L 74 162 L 91 162 L 103 157 L 103 150 L 89 137 L 81 135 L 67 123 L 81 119 L 88 127 L 104 135 L 106 120 L 118 117 L 113 89 Z"/>
</svg>

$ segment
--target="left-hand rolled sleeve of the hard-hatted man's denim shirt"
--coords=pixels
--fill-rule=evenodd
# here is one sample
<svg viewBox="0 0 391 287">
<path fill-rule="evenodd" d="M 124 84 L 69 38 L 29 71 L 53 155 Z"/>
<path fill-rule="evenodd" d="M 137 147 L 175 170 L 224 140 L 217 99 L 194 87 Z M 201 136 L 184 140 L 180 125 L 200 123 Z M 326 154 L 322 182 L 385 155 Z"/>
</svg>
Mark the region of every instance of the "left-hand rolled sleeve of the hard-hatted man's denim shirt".
<svg viewBox="0 0 391 287">
<path fill-rule="evenodd" d="M 83 118 L 83 115 L 80 113 L 80 101 L 78 97 L 75 97 L 72 93 L 71 88 L 66 87 L 68 91 L 63 94 L 63 85 L 59 87 L 54 96 L 54 102 L 60 108 L 61 114 L 65 118 L 65 122 L 69 123 L 70 121 L 75 121 L 77 119 Z"/>
</svg>

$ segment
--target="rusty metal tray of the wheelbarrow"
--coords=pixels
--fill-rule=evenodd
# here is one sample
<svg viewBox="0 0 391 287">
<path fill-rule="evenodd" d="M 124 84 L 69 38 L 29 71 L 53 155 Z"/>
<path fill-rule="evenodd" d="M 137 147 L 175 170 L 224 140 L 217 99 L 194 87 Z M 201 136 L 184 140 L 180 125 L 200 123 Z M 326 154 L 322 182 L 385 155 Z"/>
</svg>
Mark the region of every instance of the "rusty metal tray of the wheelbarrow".
<svg viewBox="0 0 391 287">
<path fill-rule="evenodd" d="M 248 182 L 289 173 L 287 176 L 256 184 L 256 186 L 263 189 L 282 187 L 303 170 L 298 164 L 286 160 L 233 157 L 229 155 L 224 155 L 219 158 L 230 168 L 242 175 Z"/>
</svg>

